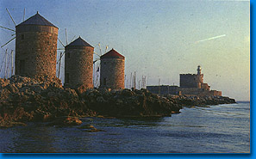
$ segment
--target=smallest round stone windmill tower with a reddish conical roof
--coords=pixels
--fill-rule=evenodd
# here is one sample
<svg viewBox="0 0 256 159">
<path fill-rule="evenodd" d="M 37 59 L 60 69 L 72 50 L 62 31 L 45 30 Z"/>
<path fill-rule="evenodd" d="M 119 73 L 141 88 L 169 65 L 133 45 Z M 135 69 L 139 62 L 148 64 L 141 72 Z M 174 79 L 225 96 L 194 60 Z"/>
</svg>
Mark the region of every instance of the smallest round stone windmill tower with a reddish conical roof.
<svg viewBox="0 0 256 159">
<path fill-rule="evenodd" d="M 124 56 L 114 49 L 101 56 L 100 88 L 124 89 Z"/>
</svg>

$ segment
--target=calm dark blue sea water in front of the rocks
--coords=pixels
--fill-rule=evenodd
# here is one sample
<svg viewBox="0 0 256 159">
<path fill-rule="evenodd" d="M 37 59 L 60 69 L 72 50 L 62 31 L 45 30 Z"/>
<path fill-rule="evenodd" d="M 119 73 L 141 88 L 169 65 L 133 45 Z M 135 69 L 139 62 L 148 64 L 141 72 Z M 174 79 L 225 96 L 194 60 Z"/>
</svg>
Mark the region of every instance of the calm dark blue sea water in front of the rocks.
<svg viewBox="0 0 256 159">
<path fill-rule="evenodd" d="M 172 117 L 82 119 L 103 131 L 28 123 L 0 129 L 0 152 L 250 152 L 250 103 L 191 107 Z"/>
</svg>

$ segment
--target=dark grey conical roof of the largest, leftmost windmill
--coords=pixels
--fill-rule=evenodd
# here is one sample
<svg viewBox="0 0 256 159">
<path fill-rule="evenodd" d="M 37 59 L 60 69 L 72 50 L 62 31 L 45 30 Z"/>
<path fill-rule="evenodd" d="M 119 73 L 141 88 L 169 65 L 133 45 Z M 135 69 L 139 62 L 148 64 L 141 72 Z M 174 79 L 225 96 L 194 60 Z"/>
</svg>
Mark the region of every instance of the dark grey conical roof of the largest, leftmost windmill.
<svg viewBox="0 0 256 159">
<path fill-rule="evenodd" d="M 50 26 L 50 27 L 55 27 L 50 21 L 47 21 L 46 18 L 44 18 L 42 15 L 40 15 L 38 12 L 31 16 L 30 18 L 28 18 L 28 20 L 23 21 L 22 23 L 20 23 L 18 26 L 22 26 L 22 25 L 39 25 L 39 26 Z"/>
</svg>

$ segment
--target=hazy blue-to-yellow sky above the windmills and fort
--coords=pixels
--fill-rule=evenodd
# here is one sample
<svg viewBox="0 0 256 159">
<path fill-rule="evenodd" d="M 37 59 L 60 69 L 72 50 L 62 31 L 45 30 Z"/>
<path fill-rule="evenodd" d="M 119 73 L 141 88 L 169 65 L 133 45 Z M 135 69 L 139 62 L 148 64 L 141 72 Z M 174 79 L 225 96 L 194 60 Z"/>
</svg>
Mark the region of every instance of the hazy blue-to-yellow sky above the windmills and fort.
<svg viewBox="0 0 256 159">
<path fill-rule="evenodd" d="M 211 89 L 248 101 L 249 7 L 249 1 L 220 0 L 0 0 L 0 25 L 15 29 L 5 8 L 16 24 L 24 8 L 25 19 L 39 11 L 59 28 L 64 43 L 66 28 L 69 42 L 80 35 L 95 52 L 99 42 L 103 52 L 105 46 L 115 48 L 126 58 L 128 79 L 136 71 L 138 78 L 147 76 L 147 85 L 158 85 L 159 78 L 161 84 L 179 85 L 179 74 L 197 73 L 200 64 Z M 11 34 L 0 28 L 1 46 Z M 0 50 L 1 64 L 6 48 L 15 49 L 15 40 Z"/>
</svg>

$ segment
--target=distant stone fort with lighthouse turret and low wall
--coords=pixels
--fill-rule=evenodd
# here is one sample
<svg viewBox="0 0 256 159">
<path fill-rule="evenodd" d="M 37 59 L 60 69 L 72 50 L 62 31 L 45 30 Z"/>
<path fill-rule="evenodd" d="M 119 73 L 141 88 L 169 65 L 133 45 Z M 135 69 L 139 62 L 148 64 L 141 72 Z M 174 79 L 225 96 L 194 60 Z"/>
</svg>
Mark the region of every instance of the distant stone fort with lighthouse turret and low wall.
<svg viewBox="0 0 256 159">
<path fill-rule="evenodd" d="M 180 74 L 180 87 L 178 86 L 147 86 L 147 90 L 158 95 L 219 95 L 222 91 L 210 90 L 208 83 L 203 83 L 203 74 L 198 65 L 197 74 Z"/>
</svg>

